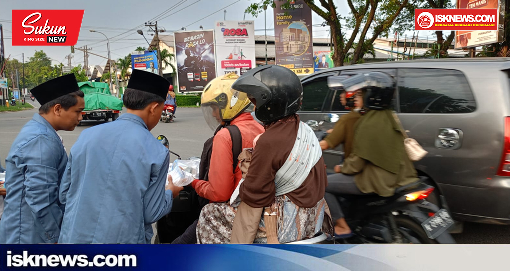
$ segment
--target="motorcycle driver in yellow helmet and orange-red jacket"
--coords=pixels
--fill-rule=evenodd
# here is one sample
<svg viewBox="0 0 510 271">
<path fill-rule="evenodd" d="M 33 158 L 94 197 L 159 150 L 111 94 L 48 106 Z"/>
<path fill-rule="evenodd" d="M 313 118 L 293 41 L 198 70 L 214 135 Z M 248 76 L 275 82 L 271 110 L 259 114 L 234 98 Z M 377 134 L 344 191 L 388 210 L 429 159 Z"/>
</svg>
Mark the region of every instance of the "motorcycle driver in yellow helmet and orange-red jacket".
<svg viewBox="0 0 510 271">
<path fill-rule="evenodd" d="M 206 122 L 215 131 L 215 136 L 206 142 L 200 175 L 208 171 L 204 177 L 207 180 L 194 180 L 192 186 L 196 193 L 210 202 L 225 202 L 230 200 L 234 189 L 242 178 L 238 163 L 238 156 L 242 149 L 252 148 L 253 140 L 264 132 L 264 127 L 253 119 L 250 114 L 251 101 L 247 95 L 232 91 L 232 84 L 239 75 L 230 73 L 213 79 L 205 88 L 201 98 L 201 107 Z M 224 129 L 226 127 L 226 129 Z M 239 130 L 237 133 L 235 132 Z M 236 146 L 236 136 L 240 134 L 242 145 Z M 211 149 L 212 147 L 212 149 Z M 234 149 L 239 148 L 237 155 Z M 212 152 L 210 152 L 212 151 Z M 210 152 L 210 157 L 207 153 Z M 206 154 L 206 156 L 205 156 Z M 208 169 L 204 165 L 208 164 Z M 205 169 L 205 170 L 204 170 Z M 186 232 L 177 237 L 173 243 L 197 242 L 196 220 Z M 198 229 L 200 231 L 200 229 Z"/>
</svg>

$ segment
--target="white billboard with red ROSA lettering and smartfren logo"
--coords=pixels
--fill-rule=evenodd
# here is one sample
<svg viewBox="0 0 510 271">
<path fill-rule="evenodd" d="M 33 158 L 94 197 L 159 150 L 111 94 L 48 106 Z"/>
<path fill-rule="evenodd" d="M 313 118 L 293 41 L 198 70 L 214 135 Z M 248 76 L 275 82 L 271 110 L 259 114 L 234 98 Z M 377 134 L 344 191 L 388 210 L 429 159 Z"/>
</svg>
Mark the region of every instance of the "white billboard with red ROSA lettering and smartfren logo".
<svg viewBox="0 0 510 271">
<path fill-rule="evenodd" d="M 218 76 L 231 72 L 243 75 L 257 67 L 253 21 L 217 21 L 215 36 Z"/>
</svg>

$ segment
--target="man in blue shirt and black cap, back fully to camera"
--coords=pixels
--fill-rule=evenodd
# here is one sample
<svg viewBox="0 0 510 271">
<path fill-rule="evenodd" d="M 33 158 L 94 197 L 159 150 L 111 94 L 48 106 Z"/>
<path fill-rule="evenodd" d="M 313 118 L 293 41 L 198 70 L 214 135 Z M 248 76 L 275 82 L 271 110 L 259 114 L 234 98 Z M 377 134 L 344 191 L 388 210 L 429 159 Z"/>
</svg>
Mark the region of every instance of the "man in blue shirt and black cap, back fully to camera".
<svg viewBox="0 0 510 271">
<path fill-rule="evenodd" d="M 60 243 L 150 243 L 152 223 L 170 212 L 183 187 L 165 183 L 167 148 L 150 130 L 159 123 L 170 83 L 134 70 L 127 114 L 82 132 L 60 188 Z"/>
</svg>

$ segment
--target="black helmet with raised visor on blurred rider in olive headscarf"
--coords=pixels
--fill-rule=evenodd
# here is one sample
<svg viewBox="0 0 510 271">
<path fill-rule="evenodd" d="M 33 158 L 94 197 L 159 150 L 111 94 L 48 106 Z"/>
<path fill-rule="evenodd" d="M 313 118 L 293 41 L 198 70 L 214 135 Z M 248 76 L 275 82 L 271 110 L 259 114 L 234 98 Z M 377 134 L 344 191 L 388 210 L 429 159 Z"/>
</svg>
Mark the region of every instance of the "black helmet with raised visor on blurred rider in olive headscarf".
<svg viewBox="0 0 510 271">
<path fill-rule="evenodd" d="M 365 107 L 371 110 L 390 109 L 395 96 L 396 84 L 393 77 L 380 71 L 372 71 L 343 80 L 347 92 L 363 91 Z"/>
</svg>

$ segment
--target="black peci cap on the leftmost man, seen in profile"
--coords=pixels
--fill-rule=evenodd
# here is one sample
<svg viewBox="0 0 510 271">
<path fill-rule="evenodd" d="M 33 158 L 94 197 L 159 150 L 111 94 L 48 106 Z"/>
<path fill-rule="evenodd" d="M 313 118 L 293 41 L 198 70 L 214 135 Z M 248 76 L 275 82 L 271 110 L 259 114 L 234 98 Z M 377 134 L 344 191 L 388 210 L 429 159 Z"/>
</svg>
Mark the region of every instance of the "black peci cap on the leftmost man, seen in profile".
<svg viewBox="0 0 510 271">
<path fill-rule="evenodd" d="M 80 90 L 78 81 L 73 73 L 57 77 L 43 83 L 30 92 L 34 95 L 37 101 L 42 105 L 53 101 L 61 96 L 69 93 L 77 92 Z"/>
</svg>

